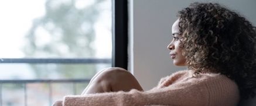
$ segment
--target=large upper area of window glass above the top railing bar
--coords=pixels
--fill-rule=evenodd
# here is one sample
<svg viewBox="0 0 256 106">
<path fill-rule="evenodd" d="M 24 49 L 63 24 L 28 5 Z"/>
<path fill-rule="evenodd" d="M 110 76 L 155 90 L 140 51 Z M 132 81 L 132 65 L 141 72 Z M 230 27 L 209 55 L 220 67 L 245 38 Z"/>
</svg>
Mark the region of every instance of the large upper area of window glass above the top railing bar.
<svg viewBox="0 0 256 106">
<path fill-rule="evenodd" d="M 111 58 L 111 0 L 8 0 L 0 13 L 0 58 Z"/>
</svg>

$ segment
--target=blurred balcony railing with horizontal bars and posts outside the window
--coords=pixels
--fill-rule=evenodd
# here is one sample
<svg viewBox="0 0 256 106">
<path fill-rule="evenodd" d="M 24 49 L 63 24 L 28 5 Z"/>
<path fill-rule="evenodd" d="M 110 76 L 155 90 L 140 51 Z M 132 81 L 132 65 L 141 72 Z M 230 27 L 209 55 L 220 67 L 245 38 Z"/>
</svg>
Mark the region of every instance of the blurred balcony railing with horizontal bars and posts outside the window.
<svg viewBox="0 0 256 106">
<path fill-rule="evenodd" d="M 63 59 L 63 58 L 56 58 L 56 59 L 12 59 L 12 58 L 2 58 L 0 59 L 0 63 L 85 63 L 85 64 L 90 64 L 90 63 L 111 63 L 111 59 Z M 19 104 L 19 105 L 28 105 L 28 102 L 30 101 L 28 99 L 28 84 L 33 84 L 33 83 L 40 83 L 40 84 L 47 84 L 48 90 L 47 91 L 47 101 L 49 101 L 49 105 L 52 105 L 53 101 L 53 84 L 61 84 L 61 83 L 69 83 L 71 84 L 73 94 L 77 94 L 77 83 L 89 83 L 90 79 L 35 79 L 35 80 L 1 80 L 0 79 L 0 105 L 3 104 L 3 98 L 4 95 L 4 90 L 3 86 L 5 84 L 21 84 L 22 85 L 22 90 L 23 90 L 23 103 L 24 104 Z"/>
</svg>

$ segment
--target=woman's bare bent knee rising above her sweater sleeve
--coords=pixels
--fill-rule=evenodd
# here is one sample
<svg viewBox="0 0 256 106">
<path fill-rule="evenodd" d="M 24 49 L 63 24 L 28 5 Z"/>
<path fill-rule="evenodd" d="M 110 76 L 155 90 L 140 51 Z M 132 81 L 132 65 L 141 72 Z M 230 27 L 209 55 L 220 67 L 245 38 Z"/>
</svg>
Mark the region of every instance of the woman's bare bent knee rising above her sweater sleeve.
<svg viewBox="0 0 256 106">
<path fill-rule="evenodd" d="M 135 77 L 122 68 L 109 68 L 98 72 L 84 89 L 82 94 L 104 93 L 111 91 L 142 91 L 141 85 Z"/>
</svg>

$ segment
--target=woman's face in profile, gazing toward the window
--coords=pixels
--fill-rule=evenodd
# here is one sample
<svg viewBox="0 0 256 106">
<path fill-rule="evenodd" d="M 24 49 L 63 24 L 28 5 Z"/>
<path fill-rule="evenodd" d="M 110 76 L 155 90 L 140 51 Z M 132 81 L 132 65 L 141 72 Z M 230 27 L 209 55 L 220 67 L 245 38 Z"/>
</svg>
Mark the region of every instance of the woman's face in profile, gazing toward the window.
<svg viewBox="0 0 256 106">
<path fill-rule="evenodd" d="M 185 66 L 186 59 L 182 55 L 182 45 L 180 45 L 182 37 L 179 33 L 179 19 L 172 25 L 172 41 L 168 45 L 170 50 L 170 58 L 173 59 L 173 64 L 176 66 Z"/>
</svg>

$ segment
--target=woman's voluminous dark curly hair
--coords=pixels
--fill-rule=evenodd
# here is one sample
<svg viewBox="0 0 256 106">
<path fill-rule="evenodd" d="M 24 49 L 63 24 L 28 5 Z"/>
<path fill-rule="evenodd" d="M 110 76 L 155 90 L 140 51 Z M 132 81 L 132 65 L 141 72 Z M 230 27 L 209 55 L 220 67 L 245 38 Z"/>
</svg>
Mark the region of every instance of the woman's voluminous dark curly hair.
<svg viewBox="0 0 256 106">
<path fill-rule="evenodd" d="M 189 69 L 211 70 L 234 80 L 241 98 L 254 97 L 256 30 L 248 20 L 218 3 L 192 3 L 178 13 Z"/>
</svg>

